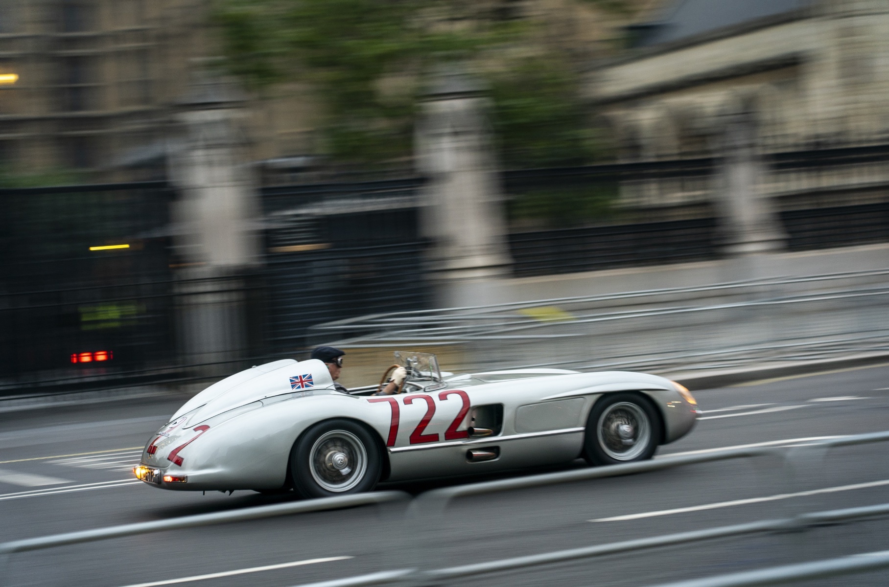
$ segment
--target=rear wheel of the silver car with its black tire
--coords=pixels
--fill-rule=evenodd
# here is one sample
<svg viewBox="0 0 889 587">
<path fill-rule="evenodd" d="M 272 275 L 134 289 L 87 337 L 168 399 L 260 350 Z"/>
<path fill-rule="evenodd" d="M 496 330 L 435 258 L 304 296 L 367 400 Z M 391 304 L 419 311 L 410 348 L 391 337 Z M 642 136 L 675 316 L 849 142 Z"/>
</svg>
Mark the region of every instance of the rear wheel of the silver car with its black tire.
<svg viewBox="0 0 889 587">
<path fill-rule="evenodd" d="M 336 419 L 309 428 L 293 445 L 293 489 L 303 498 L 371 491 L 380 480 L 382 459 L 372 432 L 352 420 Z"/>
</svg>

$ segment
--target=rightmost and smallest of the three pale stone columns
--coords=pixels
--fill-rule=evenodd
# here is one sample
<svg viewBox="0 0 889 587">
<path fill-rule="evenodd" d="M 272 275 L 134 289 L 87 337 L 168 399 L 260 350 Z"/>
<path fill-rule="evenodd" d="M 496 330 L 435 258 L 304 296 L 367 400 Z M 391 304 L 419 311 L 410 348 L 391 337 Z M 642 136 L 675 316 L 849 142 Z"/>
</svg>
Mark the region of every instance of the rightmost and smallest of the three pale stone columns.
<svg viewBox="0 0 889 587">
<path fill-rule="evenodd" d="M 724 250 L 739 256 L 782 249 L 786 237 L 781 220 L 761 191 L 765 170 L 752 113 L 726 115 L 723 129 L 716 204 Z"/>
</svg>

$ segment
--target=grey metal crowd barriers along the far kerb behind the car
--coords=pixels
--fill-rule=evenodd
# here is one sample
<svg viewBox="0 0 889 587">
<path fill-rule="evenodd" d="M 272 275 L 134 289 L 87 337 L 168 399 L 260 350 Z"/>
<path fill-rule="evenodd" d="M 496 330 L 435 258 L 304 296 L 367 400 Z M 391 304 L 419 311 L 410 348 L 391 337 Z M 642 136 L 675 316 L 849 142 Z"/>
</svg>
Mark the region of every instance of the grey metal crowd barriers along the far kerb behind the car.
<svg viewBox="0 0 889 587">
<path fill-rule="evenodd" d="M 318 325 L 313 339 L 457 347 L 468 363 L 449 370 L 662 373 L 887 353 L 887 307 L 879 269 L 376 314 Z"/>
</svg>

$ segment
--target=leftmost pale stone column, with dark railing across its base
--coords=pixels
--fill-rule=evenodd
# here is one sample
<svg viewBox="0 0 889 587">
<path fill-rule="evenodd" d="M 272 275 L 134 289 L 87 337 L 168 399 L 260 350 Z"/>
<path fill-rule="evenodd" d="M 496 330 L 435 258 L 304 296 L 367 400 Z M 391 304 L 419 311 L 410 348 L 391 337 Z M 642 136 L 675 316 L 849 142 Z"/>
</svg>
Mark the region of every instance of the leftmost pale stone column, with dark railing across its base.
<svg viewBox="0 0 889 587">
<path fill-rule="evenodd" d="M 230 373 L 248 351 L 245 274 L 258 262 L 257 206 L 240 92 L 198 71 L 177 122 L 184 140 L 169 156 L 179 195 L 173 209 L 180 356 L 208 377 Z M 212 363 L 212 365 L 211 365 Z M 221 363 L 221 364 L 220 364 Z"/>
</svg>

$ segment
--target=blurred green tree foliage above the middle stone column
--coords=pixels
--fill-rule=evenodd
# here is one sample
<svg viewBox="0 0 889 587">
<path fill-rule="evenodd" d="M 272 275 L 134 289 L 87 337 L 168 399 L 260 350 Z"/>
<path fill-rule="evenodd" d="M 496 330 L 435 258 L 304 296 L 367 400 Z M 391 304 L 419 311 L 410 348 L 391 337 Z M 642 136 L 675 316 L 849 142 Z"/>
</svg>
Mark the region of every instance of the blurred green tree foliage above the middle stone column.
<svg viewBox="0 0 889 587">
<path fill-rule="evenodd" d="M 324 106 L 324 150 L 356 163 L 411 154 L 417 93 L 436 62 L 486 77 L 503 163 L 584 163 L 591 144 L 578 75 L 534 46 L 533 23 L 485 0 L 218 0 L 228 67 L 262 88 L 305 81 Z M 539 37 L 540 35 L 537 34 Z"/>
</svg>

